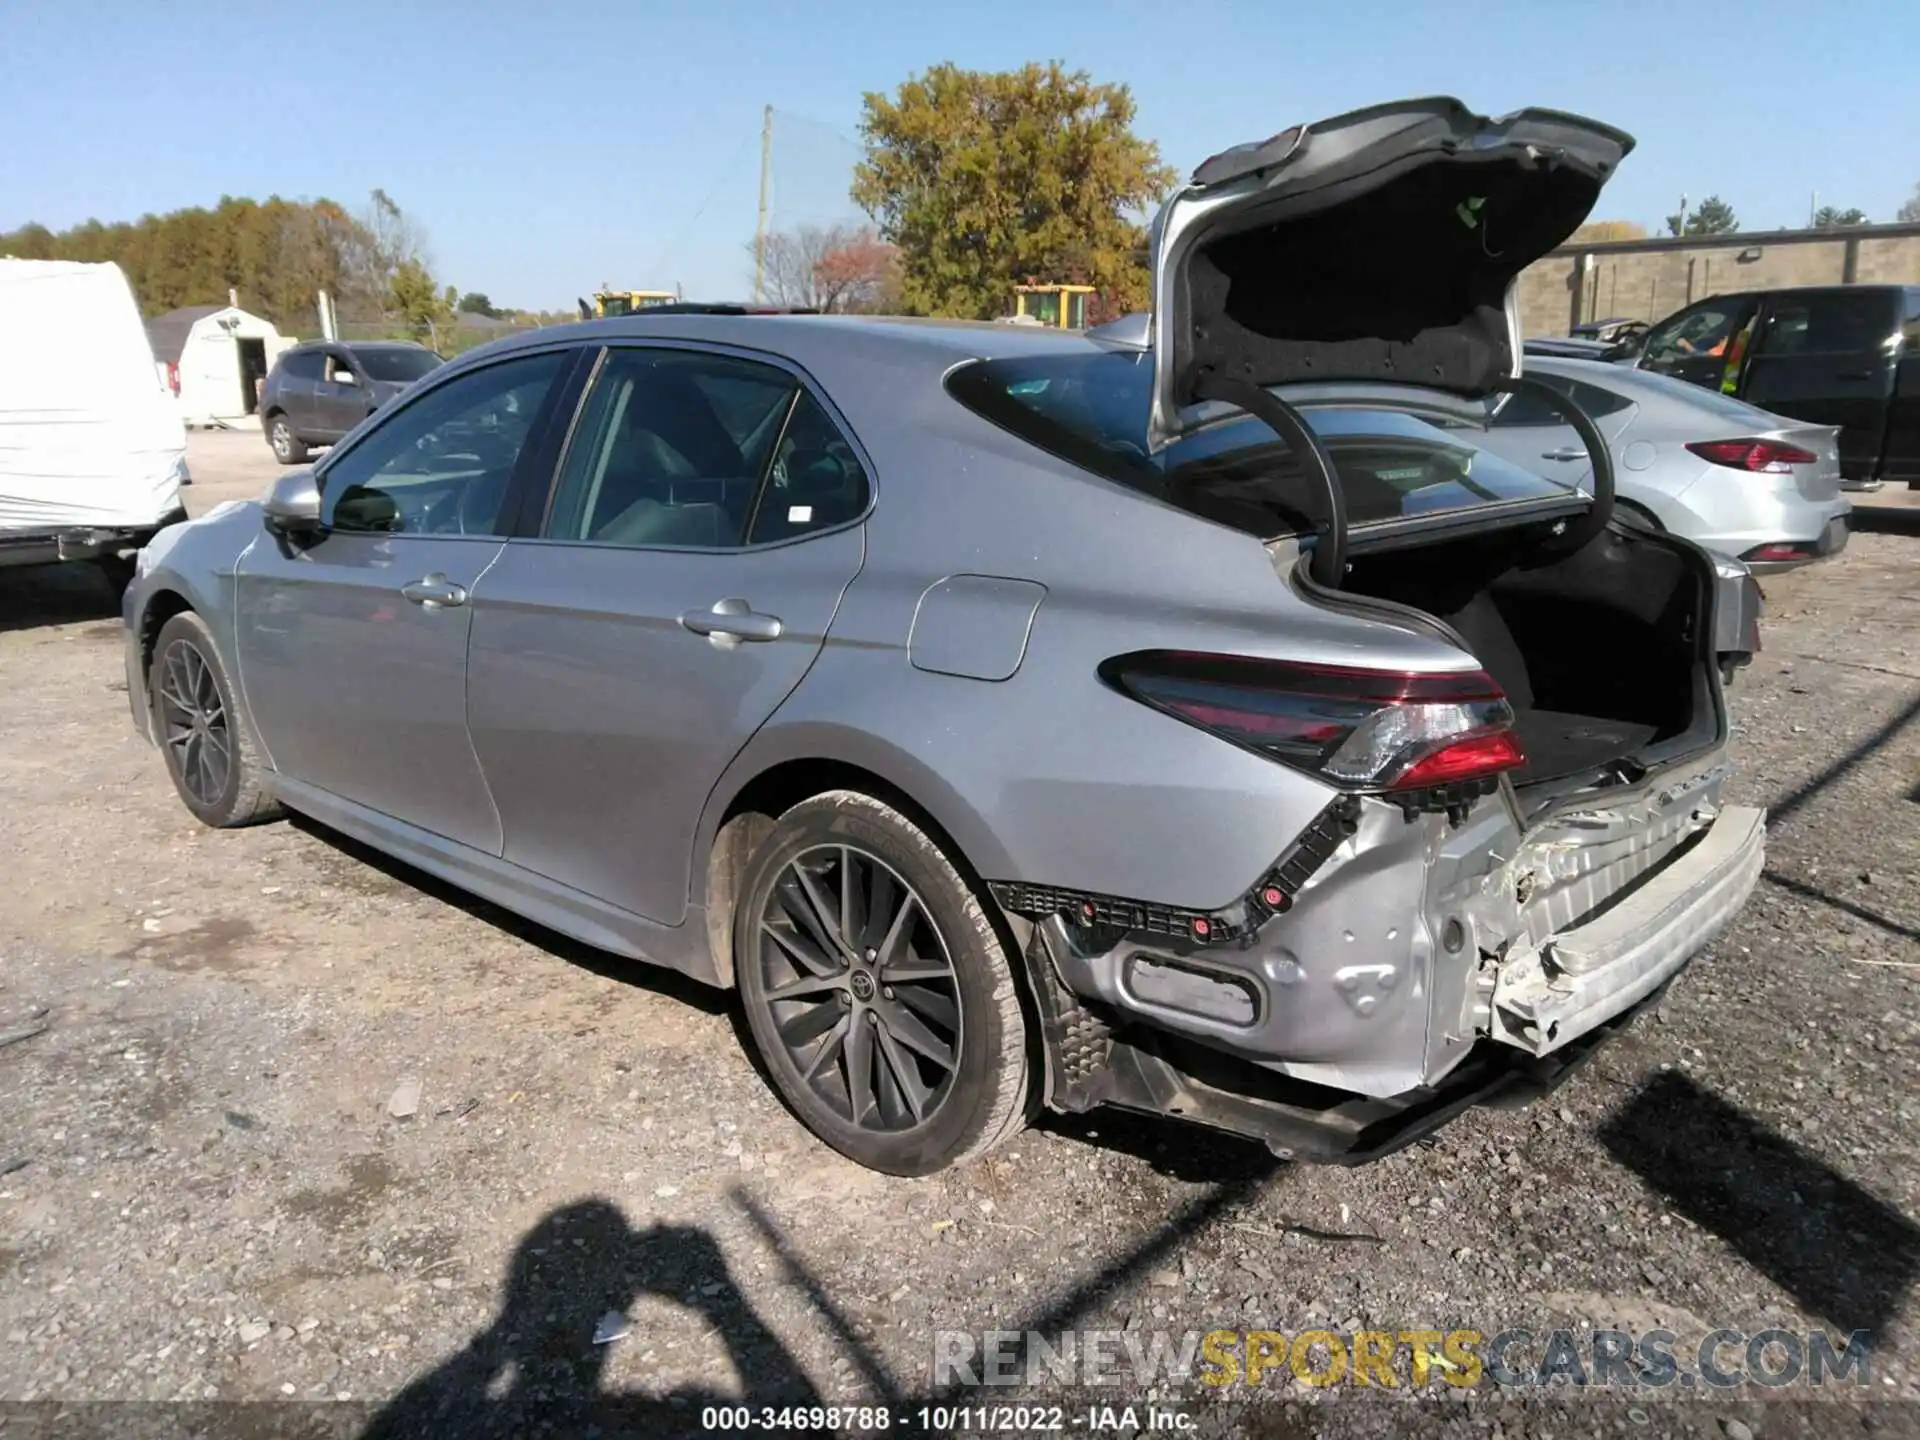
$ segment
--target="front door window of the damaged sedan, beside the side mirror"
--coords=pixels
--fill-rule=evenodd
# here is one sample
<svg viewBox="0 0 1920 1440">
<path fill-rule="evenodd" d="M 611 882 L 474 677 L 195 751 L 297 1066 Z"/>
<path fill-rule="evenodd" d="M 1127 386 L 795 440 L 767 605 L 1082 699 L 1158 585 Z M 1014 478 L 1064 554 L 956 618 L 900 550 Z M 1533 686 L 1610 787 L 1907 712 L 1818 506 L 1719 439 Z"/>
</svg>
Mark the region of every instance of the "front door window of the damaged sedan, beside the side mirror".
<svg viewBox="0 0 1920 1440">
<path fill-rule="evenodd" d="M 499 509 L 561 351 L 488 365 L 388 411 L 321 472 L 332 530 L 499 534 Z"/>
</svg>

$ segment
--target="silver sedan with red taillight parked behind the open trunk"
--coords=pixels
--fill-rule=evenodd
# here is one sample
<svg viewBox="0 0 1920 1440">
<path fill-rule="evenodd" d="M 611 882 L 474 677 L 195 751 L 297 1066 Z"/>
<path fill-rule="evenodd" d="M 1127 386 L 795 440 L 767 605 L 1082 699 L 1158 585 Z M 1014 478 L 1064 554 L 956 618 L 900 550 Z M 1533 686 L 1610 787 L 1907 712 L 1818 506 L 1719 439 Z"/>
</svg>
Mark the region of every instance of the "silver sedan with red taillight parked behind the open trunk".
<svg viewBox="0 0 1920 1440">
<path fill-rule="evenodd" d="M 1853 507 L 1839 493 L 1832 426 L 1599 361 L 1530 351 L 1526 374 L 1569 394 L 1599 426 L 1622 509 L 1761 574 L 1847 543 Z M 1540 474 L 1590 484 L 1580 438 L 1536 396 L 1501 397 L 1478 440 Z"/>
</svg>

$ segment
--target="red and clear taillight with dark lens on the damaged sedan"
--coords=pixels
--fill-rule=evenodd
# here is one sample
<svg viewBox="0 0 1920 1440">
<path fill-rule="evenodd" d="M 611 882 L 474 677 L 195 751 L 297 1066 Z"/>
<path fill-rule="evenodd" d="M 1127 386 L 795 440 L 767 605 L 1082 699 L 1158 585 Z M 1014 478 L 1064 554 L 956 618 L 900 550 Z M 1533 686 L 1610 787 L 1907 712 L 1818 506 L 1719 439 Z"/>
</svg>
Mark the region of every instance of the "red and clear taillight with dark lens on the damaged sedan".
<svg viewBox="0 0 1920 1440">
<path fill-rule="evenodd" d="M 1348 789 L 1490 780 L 1524 762 L 1484 670 L 1402 672 L 1148 651 L 1102 666 L 1137 701 Z"/>
</svg>

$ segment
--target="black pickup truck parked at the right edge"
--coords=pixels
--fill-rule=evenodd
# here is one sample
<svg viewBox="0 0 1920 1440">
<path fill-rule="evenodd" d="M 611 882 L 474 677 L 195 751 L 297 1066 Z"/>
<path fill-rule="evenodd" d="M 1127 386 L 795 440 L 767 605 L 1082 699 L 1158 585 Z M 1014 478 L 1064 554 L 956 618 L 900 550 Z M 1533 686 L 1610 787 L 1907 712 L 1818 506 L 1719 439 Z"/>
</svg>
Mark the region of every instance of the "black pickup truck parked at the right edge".
<svg viewBox="0 0 1920 1440">
<path fill-rule="evenodd" d="M 1647 330 L 1636 363 L 1839 426 L 1849 490 L 1920 490 L 1920 286 L 1711 296 Z"/>
</svg>

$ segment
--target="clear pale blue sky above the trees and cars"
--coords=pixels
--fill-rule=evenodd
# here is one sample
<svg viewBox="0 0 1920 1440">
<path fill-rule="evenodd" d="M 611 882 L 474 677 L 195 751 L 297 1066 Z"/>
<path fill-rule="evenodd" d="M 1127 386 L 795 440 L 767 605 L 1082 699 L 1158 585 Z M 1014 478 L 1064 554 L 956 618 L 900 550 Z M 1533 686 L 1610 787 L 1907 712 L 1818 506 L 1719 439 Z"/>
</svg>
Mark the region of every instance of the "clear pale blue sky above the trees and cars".
<svg viewBox="0 0 1920 1440">
<path fill-rule="evenodd" d="M 384 186 L 436 269 L 503 305 L 599 282 L 737 298 L 760 108 L 774 219 L 852 219 L 864 90 L 952 60 L 1062 60 L 1139 100 L 1183 171 L 1405 94 L 1574 109 L 1640 148 L 1596 215 L 1718 192 L 1891 219 L 1920 180 L 1920 6 L 1899 0 L 0 0 L 0 230 Z"/>
</svg>

